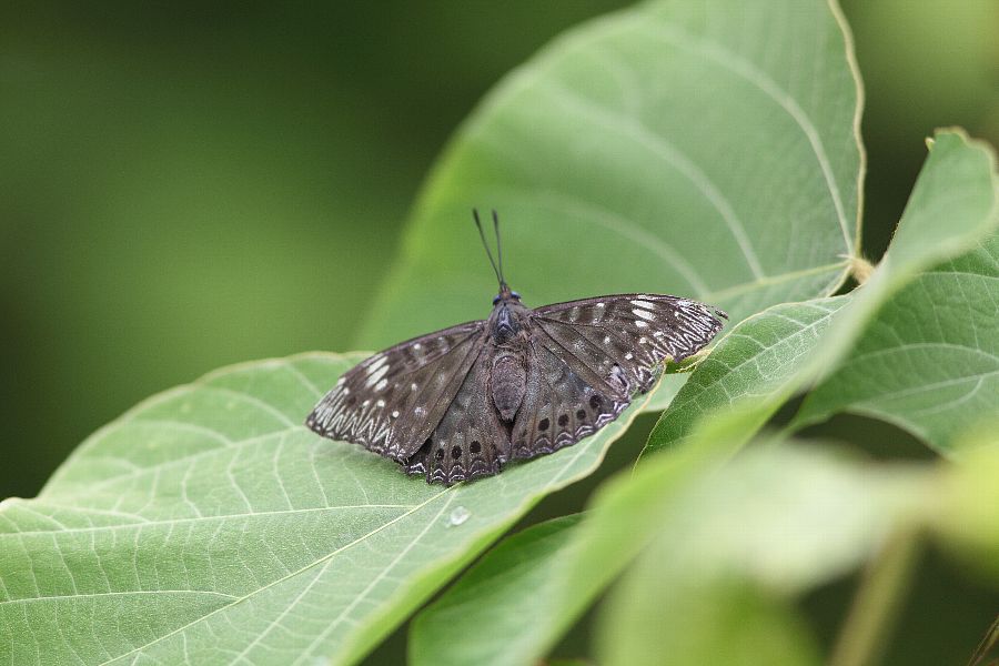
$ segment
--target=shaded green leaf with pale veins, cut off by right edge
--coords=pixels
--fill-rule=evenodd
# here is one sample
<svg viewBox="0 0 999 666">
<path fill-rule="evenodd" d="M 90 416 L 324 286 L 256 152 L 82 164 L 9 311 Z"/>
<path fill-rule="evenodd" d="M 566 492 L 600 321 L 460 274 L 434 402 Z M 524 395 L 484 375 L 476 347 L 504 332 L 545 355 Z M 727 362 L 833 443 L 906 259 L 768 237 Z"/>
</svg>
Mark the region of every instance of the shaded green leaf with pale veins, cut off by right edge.
<svg viewBox="0 0 999 666">
<path fill-rule="evenodd" d="M 950 454 L 999 408 L 999 235 L 919 275 L 806 398 L 797 425 L 852 412 L 894 423 Z"/>
</svg>

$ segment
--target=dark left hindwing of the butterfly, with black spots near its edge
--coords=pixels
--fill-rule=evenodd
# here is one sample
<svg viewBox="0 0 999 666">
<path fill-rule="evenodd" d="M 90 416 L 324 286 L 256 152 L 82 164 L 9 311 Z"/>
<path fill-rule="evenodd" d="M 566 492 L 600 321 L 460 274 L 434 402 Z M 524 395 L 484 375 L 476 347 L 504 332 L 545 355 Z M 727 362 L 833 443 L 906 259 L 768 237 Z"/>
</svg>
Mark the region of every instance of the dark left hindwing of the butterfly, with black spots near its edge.
<svg viewBox="0 0 999 666">
<path fill-rule="evenodd" d="M 406 463 L 427 483 L 452 485 L 492 476 L 509 457 L 509 434 L 490 393 L 492 345 L 484 345 L 433 435 Z"/>
</svg>

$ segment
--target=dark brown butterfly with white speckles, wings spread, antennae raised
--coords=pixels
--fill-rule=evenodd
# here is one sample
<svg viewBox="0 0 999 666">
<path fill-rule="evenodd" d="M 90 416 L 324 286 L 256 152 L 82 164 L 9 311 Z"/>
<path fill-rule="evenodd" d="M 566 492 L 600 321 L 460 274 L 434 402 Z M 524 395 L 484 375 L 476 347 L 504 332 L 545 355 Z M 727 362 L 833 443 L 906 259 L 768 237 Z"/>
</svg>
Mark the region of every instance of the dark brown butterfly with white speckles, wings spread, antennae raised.
<svg viewBox="0 0 999 666">
<path fill-rule="evenodd" d="M 727 315 L 689 299 L 616 294 L 531 309 L 503 276 L 488 319 L 414 337 L 346 372 L 305 424 L 332 440 L 392 458 L 427 483 L 498 474 L 504 464 L 553 453 L 592 435 L 664 361 L 682 361 L 722 330 Z"/>
</svg>

